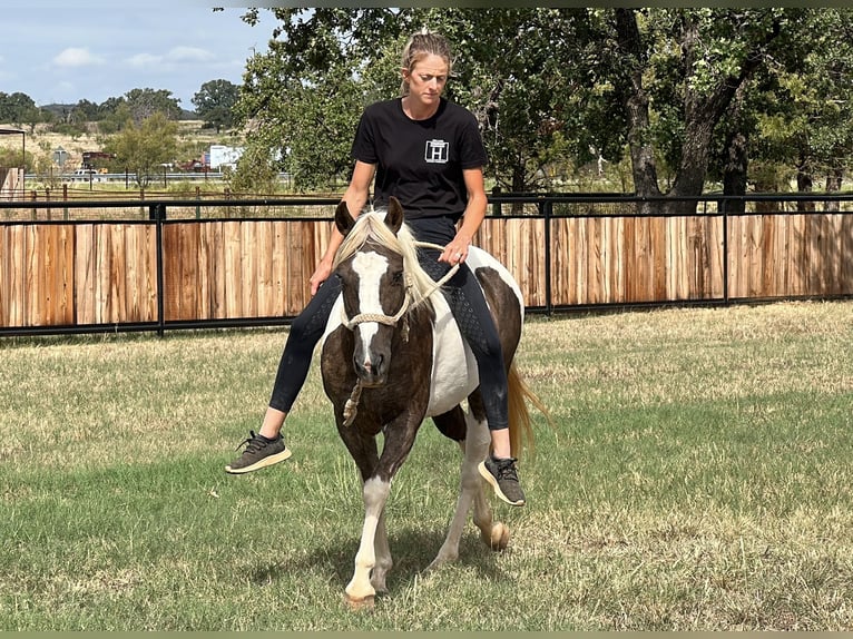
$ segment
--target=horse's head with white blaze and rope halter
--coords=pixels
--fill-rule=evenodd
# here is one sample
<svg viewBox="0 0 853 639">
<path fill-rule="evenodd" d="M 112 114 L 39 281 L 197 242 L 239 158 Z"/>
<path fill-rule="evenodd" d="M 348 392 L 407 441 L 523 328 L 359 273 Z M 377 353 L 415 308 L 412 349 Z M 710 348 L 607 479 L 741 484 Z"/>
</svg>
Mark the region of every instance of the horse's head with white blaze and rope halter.
<svg viewBox="0 0 853 639">
<path fill-rule="evenodd" d="M 403 208 L 393 197 L 384 215 L 371 210 L 353 219 L 344 201 L 335 213 L 344 235 L 335 273 L 342 284 L 344 323 L 355 336 L 353 365 L 363 386 L 385 383 L 394 338 L 408 331 L 410 281 L 396 237 L 402 224 Z"/>
</svg>

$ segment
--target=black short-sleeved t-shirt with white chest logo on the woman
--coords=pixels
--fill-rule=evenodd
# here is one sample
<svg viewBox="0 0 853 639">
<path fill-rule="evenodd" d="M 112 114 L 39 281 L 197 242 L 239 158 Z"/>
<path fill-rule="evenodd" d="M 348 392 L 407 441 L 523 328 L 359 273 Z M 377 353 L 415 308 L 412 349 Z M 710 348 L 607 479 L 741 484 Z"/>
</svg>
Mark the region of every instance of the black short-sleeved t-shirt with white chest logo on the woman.
<svg viewBox="0 0 853 639">
<path fill-rule="evenodd" d="M 376 165 L 374 206 L 386 206 L 393 195 L 406 219 L 450 216 L 454 222 L 468 203 L 462 170 L 487 161 L 477 119 L 444 98 L 426 120 L 409 118 L 400 98 L 369 106 L 352 157 Z"/>
</svg>

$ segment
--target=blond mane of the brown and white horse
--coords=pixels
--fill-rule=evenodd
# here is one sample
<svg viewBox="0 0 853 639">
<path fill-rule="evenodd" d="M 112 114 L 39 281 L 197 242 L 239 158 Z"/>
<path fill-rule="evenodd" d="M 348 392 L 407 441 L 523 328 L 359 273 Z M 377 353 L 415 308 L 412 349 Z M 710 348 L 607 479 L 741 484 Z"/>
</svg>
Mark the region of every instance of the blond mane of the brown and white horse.
<svg viewBox="0 0 853 639">
<path fill-rule="evenodd" d="M 335 254 L 333 268 L 337 268 L 342 262 L 352 257 L 367 240 L 374 240 L 403 256 L 403 268 L 411 283 L 410 293 L 413 306 L 424 304 L 431 308 L 432 304 L 429 296 L 435 292 L 435 282 L 421 268 L 418 262 L 418 245 L 414 236 L 405 223 L 394 235 L 385 224 L 384 209 L 365 210 L 355 218 L 355 225 L 346 234 Z"/>
</svg>

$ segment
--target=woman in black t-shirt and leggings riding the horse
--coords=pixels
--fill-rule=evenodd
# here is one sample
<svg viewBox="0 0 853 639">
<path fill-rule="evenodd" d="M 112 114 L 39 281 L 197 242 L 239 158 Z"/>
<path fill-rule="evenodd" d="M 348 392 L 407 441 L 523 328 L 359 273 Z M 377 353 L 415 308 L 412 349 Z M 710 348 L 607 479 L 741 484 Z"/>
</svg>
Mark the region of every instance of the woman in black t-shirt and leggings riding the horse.
<svg viewBox="0 0 853 639">
<path fill-rule="evenodd" d="M 450 76 L 450 48 L 435 33 L 412 36 L 403 51 L 402 97 L 376 102 L 361 117 L 353 142 L 352 179 L 343 200 L 353 216 L 395 196 L 416 239 L 444 246 L 423 250 L 422 266 L 434 279 L 462 267 L 444 287 L 450 308 L 477 360 L 492 452 L 480 473 L 496 494 L 524 504 L 516 460 L 511 458 L 507 373 L 498 333 L 472 272 L 463 266 L 468 247 L 486 216 L 482 167 L 486 150 L 474 117 L 441 95 Z M 458 224 L 461 220 L 461 225 Z M 261 431 L 243 442 L 243 454 L 225 470 L 246 473 L 287 459 L 281 429 L 296 400 L 311 357 L 340 293 L 332 262 L 343 236 L 333 230 L 329 248 L 311 276 L 312 301 L 291 325 Z"/>
</svg>

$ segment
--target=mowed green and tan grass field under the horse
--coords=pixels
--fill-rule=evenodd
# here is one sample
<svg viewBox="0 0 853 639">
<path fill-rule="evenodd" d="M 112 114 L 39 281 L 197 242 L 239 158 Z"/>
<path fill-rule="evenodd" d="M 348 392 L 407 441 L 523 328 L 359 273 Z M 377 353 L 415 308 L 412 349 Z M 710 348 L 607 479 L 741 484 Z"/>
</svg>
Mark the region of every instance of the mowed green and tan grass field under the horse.
<svg viewBox="0 0 853 639">
<path fill-rule="evenodd" d="M 363 515 L 316 368 L 276 468 L 223 472 L 284 331 L 0 341 L 0 630 L 851 630 L 853 302 L 531 317 L 550 406 L 491 553 L 431 423 L 350 611 Z"/>
</svg>

